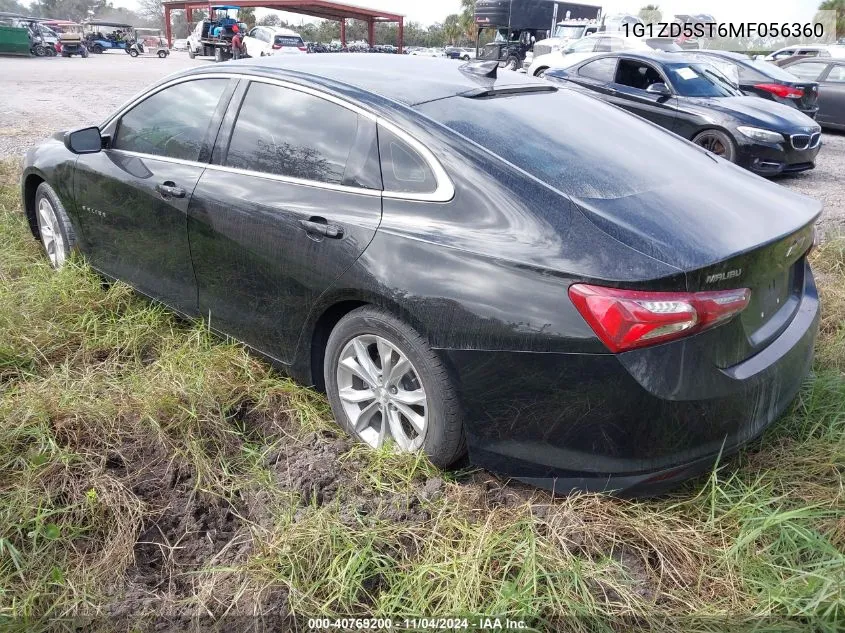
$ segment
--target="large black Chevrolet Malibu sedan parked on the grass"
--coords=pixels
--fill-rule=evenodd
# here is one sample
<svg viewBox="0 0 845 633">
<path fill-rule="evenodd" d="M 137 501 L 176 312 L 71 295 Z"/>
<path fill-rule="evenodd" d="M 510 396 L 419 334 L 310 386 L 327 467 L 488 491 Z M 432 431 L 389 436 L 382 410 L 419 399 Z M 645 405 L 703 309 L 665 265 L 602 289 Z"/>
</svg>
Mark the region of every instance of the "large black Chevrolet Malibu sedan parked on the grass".
<svg viewBox="0 0 845 633">
<path fill-rule="evenodd" d="M 495 66 L 495 64 L 493 64 Z M 819 203 L 483 63 L 245 60 L 27 154 L 54 266 L 208 318 L 372 446 L 653 493 L 787 407 Z M 408 81 L 413 77 L 413 81 Z"/>
</svg>

